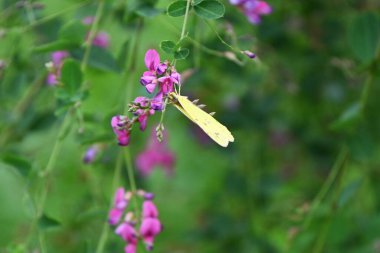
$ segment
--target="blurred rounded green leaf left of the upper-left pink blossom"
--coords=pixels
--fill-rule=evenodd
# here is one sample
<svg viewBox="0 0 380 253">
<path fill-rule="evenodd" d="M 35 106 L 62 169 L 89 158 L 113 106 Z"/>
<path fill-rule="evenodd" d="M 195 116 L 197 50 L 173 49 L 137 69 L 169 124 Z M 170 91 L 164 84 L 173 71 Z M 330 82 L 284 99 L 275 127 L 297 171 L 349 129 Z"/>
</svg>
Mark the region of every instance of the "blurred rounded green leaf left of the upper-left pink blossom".
<svg viewBox="0 0 380 253">
<path fill-rule="evenodd" d="M 87 35 L 87 28 L 79 21 L 65 24 L 59 31 L 60 40 L 71 41 L 74 44 L 83 44 Z"/>
</svg>

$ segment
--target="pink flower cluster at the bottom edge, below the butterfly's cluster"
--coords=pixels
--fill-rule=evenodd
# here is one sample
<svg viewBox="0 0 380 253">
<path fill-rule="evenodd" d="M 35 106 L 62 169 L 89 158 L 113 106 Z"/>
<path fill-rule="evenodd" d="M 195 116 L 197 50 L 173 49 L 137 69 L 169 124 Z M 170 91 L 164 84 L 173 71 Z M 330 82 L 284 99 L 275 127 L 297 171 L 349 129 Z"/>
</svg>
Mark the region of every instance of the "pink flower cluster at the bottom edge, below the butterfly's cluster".
<svg viewBox="0 0 380 253">
<path fill-rule="evenodd" d="M 128 203 L 133 197 L 142 197 L 144 199 L 141 217 L 128 211 L 125 213 Z M 125 252 L 135 253 L 137 243 L 143 240 L 147 250 L 153 249 L 155 237 L 162 231 L 162 225 L 158 219 L 158 210 L 153 203 L 154 195 L 143 190 L 137 191 L 136 194 L 126 192 L 124 188 L 116 190 L 113 207 L 109 212 L 109 223 L 117 226 L 115 233 L 119 235 L 126 243 Z M 124 220 L 121 221 L 125 213 Z M 137 218 L 140 218 L 137 220 Z M 139 229 L 136 229 L 137 225 Z"/>
</svg>

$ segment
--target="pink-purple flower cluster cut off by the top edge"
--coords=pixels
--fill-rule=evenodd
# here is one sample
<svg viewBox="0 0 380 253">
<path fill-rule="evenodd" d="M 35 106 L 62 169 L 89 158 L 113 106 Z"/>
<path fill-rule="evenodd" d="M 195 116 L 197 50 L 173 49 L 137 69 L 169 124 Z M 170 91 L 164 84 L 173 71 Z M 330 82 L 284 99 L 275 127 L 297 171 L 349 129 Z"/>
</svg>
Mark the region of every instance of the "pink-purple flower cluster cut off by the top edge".
<svg viewBox="0 0 380 253">
<path fill-rule="evenodd" d="M 230 3 L 238 6 L 252 24 L 260 23 L 261 15 L 268 15 L 272 12 L 271 6 L 261 0 L 230 0 Z"/>
</svg>

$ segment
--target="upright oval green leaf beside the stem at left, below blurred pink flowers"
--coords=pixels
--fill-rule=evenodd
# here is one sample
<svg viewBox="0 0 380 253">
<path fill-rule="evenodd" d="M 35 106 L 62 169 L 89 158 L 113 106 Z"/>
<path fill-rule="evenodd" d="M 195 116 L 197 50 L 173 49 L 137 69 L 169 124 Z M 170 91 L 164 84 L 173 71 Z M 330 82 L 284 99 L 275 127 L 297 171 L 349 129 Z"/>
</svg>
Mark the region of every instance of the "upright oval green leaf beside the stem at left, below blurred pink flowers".
<svg viewBox="0 0 380 253">
<path fill-rule="evenodd" d="M 73 59 L 65 60 L 62 66 L 61 81 L 68 95 L 75 95 L 82 84 L 80 65 Z"/>
</svg>

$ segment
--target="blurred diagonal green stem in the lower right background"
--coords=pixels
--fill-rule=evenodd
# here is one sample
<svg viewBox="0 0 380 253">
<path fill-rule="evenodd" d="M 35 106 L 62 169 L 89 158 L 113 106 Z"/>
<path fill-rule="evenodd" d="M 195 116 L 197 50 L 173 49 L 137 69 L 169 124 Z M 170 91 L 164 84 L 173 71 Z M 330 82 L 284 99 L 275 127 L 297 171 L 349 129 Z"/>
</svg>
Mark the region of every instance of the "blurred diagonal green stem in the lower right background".
<svg viewBox="0 0 380 253">
<path fill-rule="evenodd" d="M 318 192 L 317 196 L 313 200 L 313 203 L 311 205 L 310 211 L 306 217 L 306 219 L 303 222 L 303 228 L 306 229 L 309 227 L 312 218 L 314 216 L 314 212 L 317 210 L 319 205 L 321 204 L 322 200 L 326 197 L 328 191 L 332 187 L 333 183 L 335 182 L 337 176 L 339 175 L 339 172 L 341 168 L 343 168 L 344 162 L 347 159 L 348 155 L 348 149 L 347 147 L 343 147 L 335 160 L 334 166 L 331 169 L 331 172 L 325 182 L 325 184 L 322 186 L 321 190 Z"/>
</svg>

